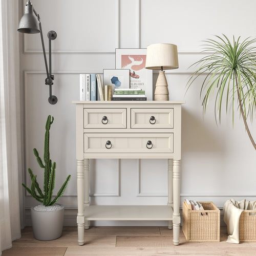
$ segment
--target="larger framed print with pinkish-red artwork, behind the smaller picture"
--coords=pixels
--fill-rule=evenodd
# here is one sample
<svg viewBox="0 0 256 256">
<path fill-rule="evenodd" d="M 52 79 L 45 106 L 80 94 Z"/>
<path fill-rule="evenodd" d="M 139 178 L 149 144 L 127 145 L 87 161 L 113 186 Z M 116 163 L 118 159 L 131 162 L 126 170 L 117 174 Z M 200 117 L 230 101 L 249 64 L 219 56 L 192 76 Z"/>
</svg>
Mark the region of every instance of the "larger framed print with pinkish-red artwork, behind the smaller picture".
<svg viewBox="0 0 256 256">
<path fill-rule="evenodd" d="M 130 70 L 130 88 L 145 90 L 153 100 L 153 70 L 145 69 L 146 49 L 116 49 L 116 69 Z"/>
</svg>

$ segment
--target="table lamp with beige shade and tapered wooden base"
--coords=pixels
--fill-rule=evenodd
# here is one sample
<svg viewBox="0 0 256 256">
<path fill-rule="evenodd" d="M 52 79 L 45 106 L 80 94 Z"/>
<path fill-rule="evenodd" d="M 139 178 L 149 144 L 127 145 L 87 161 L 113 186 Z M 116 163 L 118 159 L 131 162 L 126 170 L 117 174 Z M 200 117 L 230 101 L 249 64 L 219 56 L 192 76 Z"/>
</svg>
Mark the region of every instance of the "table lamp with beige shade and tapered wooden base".
<svg viewBox="0 0 256 256">
<path fill-rule="evenodd" d="M 155 100 L 169 100 L 169 91 L 164 69 L 178 69 L 177 46 L 153 44 L 146 50 L 146 69 L 159 70 L 156 82 Z"/>
</svg>

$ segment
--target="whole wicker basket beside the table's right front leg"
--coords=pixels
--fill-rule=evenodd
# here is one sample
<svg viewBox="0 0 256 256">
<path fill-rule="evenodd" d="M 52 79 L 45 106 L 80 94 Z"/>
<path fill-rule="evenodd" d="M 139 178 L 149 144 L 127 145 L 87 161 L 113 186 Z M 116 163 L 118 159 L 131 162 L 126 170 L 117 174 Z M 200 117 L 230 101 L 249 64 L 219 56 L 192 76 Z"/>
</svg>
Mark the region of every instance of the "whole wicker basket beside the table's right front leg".
<svg viewBox="0 0 256 256">
<path fill-rule="evenodd" d="M 182 230 L 188 242 L 220 242 L 220 210 L 212 202 L 200 202 L 204 210 L 189 210 L 183 202 Z M 206 216 L 201 215 L 206 212 Z"/>
</svg>

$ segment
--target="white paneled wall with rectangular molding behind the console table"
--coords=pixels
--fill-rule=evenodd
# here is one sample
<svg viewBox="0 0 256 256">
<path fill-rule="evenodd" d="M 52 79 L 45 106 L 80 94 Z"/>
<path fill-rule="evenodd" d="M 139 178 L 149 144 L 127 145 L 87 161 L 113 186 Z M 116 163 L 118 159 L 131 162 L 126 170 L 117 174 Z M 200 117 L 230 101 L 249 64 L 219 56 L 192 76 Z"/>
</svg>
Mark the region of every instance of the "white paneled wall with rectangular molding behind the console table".
<svg viewBox="0 0 256 256">
<path fill-rule="evenodd" d="M 255 152 L 242 120 L 230 110 L 216 125 L 214 101 L 203 118 L 199 99 L 200 79 L 185 94 L 186 83 L 199 60 L 202 40 L 222 33 L 243 38 L 255 36 L 256 2 L 239 0 L 33 0 L 40 14 L 46 49 L 47 33 L 57 32 L 52 41 L 53 94 L 48 103 L 45 67 L 40 36 L 22 37 L 21 66 L 24 76 L 24 118 L 26 169 L 32 168 L 42 183 L 42 170 L 33 155 L 43 154 L 45 122 L 53 115 L 51 158 L 57 162 L 56 190 L 72 175 L 65 195 L 59 200 L 66 210 L 66 225 L 76 218 L 75 106 L 79 99 L 79 74 L 102 73 L 115 68 L 115 48 L 146 48 L 157 42 L 177 44 L 177 70 L 166 71 L 170 98 L 185 99 L 182 111 L 181 200 L 184 197 L 214 201 L 218 207 L 233 197 L 255 200 Z M 20 16 L 26 0 L 19 1 Z M 157 73 L 154 73 L 156 81 Z M 202 78 L 203 79 L 203 78 Z M 256 137 L 255 124 L 250 125 Z M 91 160 L 92 204 L 166 204 L 167 161 L 136 159 Z M 30 177 L 25 171 L 26 182 Z M 55 190 L 55 194 L 56 191 Z M 26 195 L 26 223 L 29 207 L 37 202 Z M 97 222 L 96 225 L 167 225 L 165 222 Z"/>
</svg>

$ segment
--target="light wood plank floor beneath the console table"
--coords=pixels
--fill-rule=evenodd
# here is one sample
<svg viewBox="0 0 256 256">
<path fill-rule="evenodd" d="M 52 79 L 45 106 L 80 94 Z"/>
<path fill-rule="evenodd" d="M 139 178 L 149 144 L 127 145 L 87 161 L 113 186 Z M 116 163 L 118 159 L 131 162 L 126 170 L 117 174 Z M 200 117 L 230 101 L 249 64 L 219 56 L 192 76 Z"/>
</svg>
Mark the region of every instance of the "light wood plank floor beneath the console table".
<svg viewBox="0 0 256 256">
<path fill-rule="evenodd" d="M 127 256 L 127 255 L 256 255 L 256 243 L 226 242 L 226 227 L 221 227 L 221 242 L 186 242 L 180 232 L 180 245 L 173 245 L 173 231 L 167 227 L 91 227 L 85 230 L 86 244 L 77 244 L 77 227 L 65 227 L 53 241 L 33 238 L 31 227 L 13 242 L 3 256 Z"/>
</svg>

